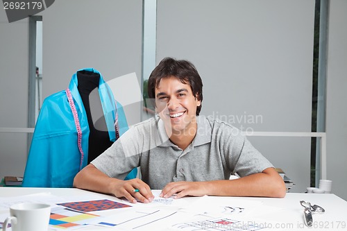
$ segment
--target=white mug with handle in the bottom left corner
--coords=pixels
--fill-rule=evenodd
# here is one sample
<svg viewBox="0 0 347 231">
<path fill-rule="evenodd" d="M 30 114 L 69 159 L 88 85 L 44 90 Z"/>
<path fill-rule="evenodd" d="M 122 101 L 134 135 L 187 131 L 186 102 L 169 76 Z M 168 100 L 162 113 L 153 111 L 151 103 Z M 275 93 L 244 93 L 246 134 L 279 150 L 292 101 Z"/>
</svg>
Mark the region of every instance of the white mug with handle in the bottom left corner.
<svg viewBox="0 0 347 231">
<path fill-rule="evenodd" d="M 11 223 L 12 231 L 47 231 L 51 206 L 42 203 L 22 203 L 10 207 L 10 216 L 3 222 L 3 231 Z"/>
</svg>

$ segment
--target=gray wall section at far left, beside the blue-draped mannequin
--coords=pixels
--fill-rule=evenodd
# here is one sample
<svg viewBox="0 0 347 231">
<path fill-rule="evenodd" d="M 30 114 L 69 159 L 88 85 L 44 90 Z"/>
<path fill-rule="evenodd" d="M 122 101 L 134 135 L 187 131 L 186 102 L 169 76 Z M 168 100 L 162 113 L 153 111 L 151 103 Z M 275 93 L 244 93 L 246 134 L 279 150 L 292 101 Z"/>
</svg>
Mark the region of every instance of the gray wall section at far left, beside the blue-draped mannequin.
<svg viewBox="0 0 347 231">
<path fill-rule="evenodd" d="M 0 8 L 0 128 L 28 126 L 28 19 L 8 23 Z M 28 135 L 0 132 L 0 178 L 21 176 Z"/>
</svg>

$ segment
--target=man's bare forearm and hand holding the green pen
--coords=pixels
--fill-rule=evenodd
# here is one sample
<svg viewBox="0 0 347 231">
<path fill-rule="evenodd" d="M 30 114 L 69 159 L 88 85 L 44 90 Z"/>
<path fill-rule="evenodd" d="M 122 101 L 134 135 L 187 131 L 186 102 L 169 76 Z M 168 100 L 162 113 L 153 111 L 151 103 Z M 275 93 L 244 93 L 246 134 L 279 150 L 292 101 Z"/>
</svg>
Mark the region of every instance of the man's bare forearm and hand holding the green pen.
<svg viewBox="0 0 347 231">
<path fill-rule="evenodd" d="M 93 164 L 88 164 L 74 178 L 74 187 L 97 191 L 103 194 L 113 194 L 118 198 L 125 197 L 131 203 L 137 200 L 149 203 L 153 200 L 153 194 L 149 185 L 142 180 L 119 180 L 110 178 L 105 173 L 96 169 Z M 139 192 L 134 191 L 139 189 Z"/>
</svg>

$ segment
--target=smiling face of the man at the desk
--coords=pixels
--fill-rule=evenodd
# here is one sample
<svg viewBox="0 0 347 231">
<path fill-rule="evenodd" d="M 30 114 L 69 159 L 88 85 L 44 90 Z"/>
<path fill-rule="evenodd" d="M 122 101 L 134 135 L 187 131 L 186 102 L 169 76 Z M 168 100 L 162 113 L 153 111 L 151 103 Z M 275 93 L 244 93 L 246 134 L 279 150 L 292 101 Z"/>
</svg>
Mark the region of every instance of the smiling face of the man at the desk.
<svg viewBox="0 0 347 231">
<path fill-rule="evenodd" d="M 175 76 L 162 78 L 155 88 L 155 106 L 169 137 L 196 134 L 196 107 L 199 105 L 201 101 L 192 94 L 190 85 Z"/>
</svg>

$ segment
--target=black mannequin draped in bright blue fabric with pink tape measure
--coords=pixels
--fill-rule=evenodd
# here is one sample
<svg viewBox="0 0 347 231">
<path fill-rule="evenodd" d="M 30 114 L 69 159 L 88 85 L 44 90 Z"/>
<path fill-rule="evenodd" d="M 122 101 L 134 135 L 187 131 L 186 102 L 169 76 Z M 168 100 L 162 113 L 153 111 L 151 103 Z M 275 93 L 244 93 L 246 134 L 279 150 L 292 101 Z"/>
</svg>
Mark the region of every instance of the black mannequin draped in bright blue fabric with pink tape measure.
<svg viewBox="0 0 347 231">
<path fill-rule="evenodd" d="M 119 135 L 128 130 L 123 107 L 117 103 L 117 114 L 115 107 L 112 91 L 99 71 L 76 71 L 67 89 L 51 94 L 42 103 L 22 187 L 73 187 L 78 171 L 117 139 L 113 130 L 117 117 Z M 110 114 L 104 114 L 103 108 Z M 135 168 L 126 180 L 136 176 Z"/>
</svg>

